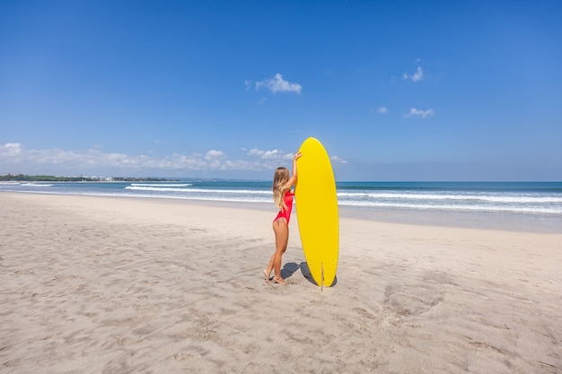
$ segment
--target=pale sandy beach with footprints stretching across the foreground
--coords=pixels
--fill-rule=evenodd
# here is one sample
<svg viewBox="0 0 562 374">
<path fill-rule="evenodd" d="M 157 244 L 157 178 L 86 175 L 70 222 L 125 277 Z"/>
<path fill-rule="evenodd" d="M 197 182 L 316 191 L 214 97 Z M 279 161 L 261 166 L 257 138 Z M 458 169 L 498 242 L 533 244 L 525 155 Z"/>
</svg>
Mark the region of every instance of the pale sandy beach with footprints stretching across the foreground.
<svg viewBox="0 0 562 374">
<path fill-rule="evenodd" d="M 0 206 L 2 373 L 562 373 L 562 233 L 345 217 L 321 291 L 273 204 Z"/>
</svg>

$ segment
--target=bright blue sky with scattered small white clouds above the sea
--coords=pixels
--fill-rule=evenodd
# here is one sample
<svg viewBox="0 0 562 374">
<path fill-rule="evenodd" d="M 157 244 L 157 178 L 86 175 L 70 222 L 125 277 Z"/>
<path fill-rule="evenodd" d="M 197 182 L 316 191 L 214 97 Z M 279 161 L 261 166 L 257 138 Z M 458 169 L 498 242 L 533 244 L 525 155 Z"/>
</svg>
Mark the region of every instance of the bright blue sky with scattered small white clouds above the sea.
<svg viewBox="0 0 562 374">
<path fill-rule="evenodd" d="M 0 174 L 562 180 L 558 1 L 2 1 Z"/>
</svg>

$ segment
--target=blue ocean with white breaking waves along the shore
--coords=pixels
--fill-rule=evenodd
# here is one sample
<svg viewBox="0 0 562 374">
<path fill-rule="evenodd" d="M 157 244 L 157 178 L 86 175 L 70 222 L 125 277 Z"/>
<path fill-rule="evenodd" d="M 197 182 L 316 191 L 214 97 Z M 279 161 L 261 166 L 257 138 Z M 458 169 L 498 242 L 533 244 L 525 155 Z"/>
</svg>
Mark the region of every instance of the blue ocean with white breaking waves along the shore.
<svg viewBox="0 0 562 374">
<path fill-rule="evenodd" d="M 360 213 L 470 213 L 523 217 L 562 231 L 562 182 L 338 182 L 338 205 Z M 0 183 L 1 192 L 272 203 L 271 181 Z M 298 201 L 296 202 L 298 204 Z M 419 214 L 418 214 L 419 215 Z"/>
</svg>

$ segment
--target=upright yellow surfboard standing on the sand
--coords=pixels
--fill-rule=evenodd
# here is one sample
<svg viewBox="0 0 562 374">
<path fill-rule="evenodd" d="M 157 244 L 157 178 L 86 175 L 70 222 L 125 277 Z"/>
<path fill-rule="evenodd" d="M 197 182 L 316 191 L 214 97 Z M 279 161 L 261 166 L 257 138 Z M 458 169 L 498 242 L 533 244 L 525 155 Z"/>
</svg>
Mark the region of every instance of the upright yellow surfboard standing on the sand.
<svg viewBox="0 0 562 374">
<path fill-rule="evenodd" d="M 297 161 L 294 197 L 304 257 L 314 281 L 321 287 L 331 286 L 339 253 L 336 180 L 328 152 L 317 139 L 306 139 L 299 152 L 303 157 Z"/>
</svg>

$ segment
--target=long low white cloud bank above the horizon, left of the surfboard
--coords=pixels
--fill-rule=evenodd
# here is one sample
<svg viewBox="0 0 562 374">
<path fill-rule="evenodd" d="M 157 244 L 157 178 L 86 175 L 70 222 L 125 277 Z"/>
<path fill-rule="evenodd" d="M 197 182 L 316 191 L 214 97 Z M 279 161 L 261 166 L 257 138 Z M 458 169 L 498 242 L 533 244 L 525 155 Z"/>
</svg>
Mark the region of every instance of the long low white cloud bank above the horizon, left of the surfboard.
<svg viewBox="0 0 562 374">
<path fill-rule="evenodd" d="M 293 157 L 274 149 L 262 151 L 254 148 L 246 157 L 233 160 L 220 150 L 203 153 L 173 153 L 157 156 L 152 152 L 130 155 L 119 152 L 103 152 L 100 147 L 86 151 L 63 149 L 27 150 L 22 144 L 0 144 L 0 174 L 53 174 L 53 175 L 98 175 L 98 176 L 171 176 L 171 174 L 207 173 L 230 171 L 241 172 L 275 170 L 287 165 Z M 251 174 L 250 174 L 251 175 Z M 216 176 L 216 175 L 215 175 Z"/>
</svg>

